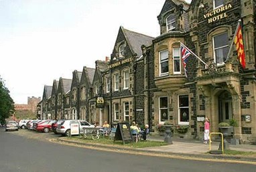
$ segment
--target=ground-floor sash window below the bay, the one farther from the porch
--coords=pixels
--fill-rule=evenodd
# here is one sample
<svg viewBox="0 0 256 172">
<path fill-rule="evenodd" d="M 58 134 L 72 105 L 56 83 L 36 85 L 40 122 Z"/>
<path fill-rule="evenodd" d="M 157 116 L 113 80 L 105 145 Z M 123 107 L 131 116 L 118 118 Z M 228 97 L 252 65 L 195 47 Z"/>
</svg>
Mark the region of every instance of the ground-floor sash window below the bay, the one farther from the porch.
<svg viewBox="0 0 256 172">
<path fill-rule="evenodd" d="M 160 122 L 168 121 L 168 97 L 159 97 Z"/>
</svg>

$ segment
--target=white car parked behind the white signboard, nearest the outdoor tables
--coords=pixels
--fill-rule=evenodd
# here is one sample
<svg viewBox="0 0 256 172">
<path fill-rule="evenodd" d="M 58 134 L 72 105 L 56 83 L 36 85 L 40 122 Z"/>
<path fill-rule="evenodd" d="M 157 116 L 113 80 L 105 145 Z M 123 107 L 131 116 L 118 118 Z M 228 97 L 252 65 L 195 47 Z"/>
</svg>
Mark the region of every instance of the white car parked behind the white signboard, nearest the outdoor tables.
<svg viewBox="0 0 256 172">
<path fill-rule="evenodd" d="M 78 122 L 79 123 L 79 129 L 80 129 L 80 133 L 83 132 L 83 127 L 94 127 L 94 125 L 91 125 L 90 123 L 88 123 L 87 121 L 84 120 L 80 120 L 80 119 L 69 119 L 69 120 L 65 120 L 62 121 L 62 123 L 60 123 L 60 125 L 58 125 L 56 131 L 58 134 L 61 135 L 65 135 L 68 136 L 70 135 L 70 123 L 72 122 Z"/>
</svg>

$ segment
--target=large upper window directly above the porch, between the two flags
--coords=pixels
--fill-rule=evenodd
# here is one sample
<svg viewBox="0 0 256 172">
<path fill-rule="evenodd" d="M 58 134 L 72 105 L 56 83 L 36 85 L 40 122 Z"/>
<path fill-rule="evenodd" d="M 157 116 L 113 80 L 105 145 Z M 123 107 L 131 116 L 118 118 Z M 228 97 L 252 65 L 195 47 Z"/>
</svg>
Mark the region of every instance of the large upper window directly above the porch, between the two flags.
<svg viewBox="0 0 256 172">
<path fill-rule="evenodd" d="M 214 61 L 217 65 L 223 65 L 229 51 L 228 33 L 221 33 L 213 36 Z"/>
</svg>

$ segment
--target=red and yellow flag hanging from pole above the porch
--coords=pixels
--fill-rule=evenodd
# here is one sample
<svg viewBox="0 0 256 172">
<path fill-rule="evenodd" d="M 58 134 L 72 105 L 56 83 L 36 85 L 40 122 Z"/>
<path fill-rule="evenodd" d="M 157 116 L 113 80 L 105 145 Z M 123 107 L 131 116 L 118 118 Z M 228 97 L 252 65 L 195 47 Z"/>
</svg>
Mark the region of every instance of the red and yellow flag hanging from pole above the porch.
<svg viewBox="0 0 256 172">
<path fill-rule="evenodd" d="M 237 57 L 241 63 L 243 69 L 245 69 L 245 49 L 243 47 L 243 35 L 241 30 L 241 25 L 238 25 L 237 34 L 234 39 L 236 48 L 237 48 Z"/>
</svg>

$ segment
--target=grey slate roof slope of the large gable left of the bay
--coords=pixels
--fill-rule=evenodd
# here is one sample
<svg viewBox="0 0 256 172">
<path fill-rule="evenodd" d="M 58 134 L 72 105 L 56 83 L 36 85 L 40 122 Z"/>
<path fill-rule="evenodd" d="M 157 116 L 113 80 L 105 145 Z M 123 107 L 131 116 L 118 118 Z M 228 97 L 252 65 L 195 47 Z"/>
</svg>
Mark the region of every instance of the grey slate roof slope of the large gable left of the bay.
<svg viewBox="0 0 256 172">
<path fill-rule="evenodd" d="M 145 45 L 147 47 L 151 45 L 152 40 L 154 39 L 154 37 L 149 37 L 141 33 L 129 31 L 123 28 L 122 26 L 121 26 L 121 29 L 123 30 L 127 43 L 131 48 L 131 51 L 133 51 L 133 53 L 136 53 L 137 57 L 141 57 L 142 55 L 141 45 Z"/>
</svg>

